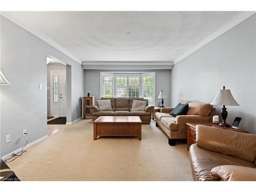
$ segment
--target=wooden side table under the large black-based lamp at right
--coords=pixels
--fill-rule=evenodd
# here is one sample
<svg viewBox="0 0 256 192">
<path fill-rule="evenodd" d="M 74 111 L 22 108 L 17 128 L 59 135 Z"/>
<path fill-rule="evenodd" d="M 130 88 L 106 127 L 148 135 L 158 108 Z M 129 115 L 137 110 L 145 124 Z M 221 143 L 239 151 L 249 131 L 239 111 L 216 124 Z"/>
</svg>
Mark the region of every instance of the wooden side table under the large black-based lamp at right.
<svg viewBox="0 0 256 192">
<path fill-rule="evenodd" d="M 191 144 L 194 144 L 196 143 L 196 125 L 197 124 L 202 124 L 202 125 L 206 125 L 206 126 L 212 126 L 212 127 L 216 127 L 216 128 L 219 128 L 219 129 L 223 129 L 223 130 L 230 130 L 230 131 L 234 131 L 234 132 L 241 132 L 241 133 L 249 133 L 245 130 L 237 130 L 237 129 L 233 129 L 232 127 L 223 127 L 223 126 L 220 126 L 219 124 L 215 124 L 215 123 L 212 123 L 212 122 L 193 122 L 193 123 L 186 123 L 187 125 L 187 151 L 189 149 L 189 146 Z"/>
</svg>

